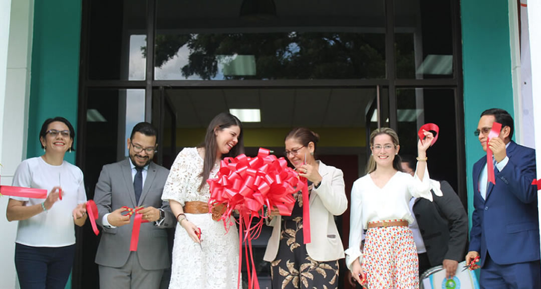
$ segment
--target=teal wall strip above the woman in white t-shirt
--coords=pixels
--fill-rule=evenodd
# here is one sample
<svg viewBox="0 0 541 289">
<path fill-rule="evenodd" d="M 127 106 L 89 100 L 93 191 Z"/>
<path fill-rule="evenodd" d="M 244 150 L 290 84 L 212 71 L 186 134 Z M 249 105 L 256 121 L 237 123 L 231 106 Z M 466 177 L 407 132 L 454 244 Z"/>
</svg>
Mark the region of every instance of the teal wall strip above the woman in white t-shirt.
<svg viewBox="0 0 541 289">
<path fill-rule="evenodd" d="M 43 121 L 61 116 L 77 128 L 82 0 L 35 0 L 27 157 L 43 154 Z M 77 131 L 76 131 L 77 132 Z M 75 152 L 65 160 L 75 163 Z"/>
</svg>

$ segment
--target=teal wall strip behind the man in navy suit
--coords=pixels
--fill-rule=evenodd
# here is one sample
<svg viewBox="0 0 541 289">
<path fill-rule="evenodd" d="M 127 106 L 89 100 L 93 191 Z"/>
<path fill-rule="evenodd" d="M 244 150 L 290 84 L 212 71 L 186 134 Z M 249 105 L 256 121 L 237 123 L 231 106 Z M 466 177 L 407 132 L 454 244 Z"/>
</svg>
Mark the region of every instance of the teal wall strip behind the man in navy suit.
<svg viewBox="0 0 541 289">
<path fill-rule="evenodd" d="M 507 0 L 460 3 L 469 220 L 473 211 L 472 167 L 485 155 L 479 139 L 473 135 L 479 115 L 492 107 L 513 115 L 508 5 Z"/>
</svg>

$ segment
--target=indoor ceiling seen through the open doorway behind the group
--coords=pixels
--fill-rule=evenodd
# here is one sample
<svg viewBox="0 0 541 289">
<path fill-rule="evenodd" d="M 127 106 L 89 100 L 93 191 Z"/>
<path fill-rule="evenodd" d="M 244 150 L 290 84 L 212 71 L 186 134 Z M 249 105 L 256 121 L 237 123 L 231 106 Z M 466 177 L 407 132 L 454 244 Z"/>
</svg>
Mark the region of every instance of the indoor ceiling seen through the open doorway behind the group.
<svg viewBox="0 0 541 289">
<path fill-rule="evenodd" d="M 245 127 L 364 127 L 372 88 L 166 89 L 177 128 L 207 127 L 230 108 L 259 108 L 261 123 Z"/>
</svg>

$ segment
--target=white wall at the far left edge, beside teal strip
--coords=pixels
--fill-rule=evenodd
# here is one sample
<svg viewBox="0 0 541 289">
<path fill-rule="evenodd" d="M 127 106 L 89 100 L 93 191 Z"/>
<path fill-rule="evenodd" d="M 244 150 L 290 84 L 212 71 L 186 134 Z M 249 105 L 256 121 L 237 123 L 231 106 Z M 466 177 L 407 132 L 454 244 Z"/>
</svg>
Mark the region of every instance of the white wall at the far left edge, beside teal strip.
<svg viewBox="0 0 541 289">
<path fill-rule="evenodd" d="M 17 165 L 26 157 L 33 11 L 33 0 L 0 0 L 0 163 L 3 165 L 3 185 L 11 184 Z M 0 286 L 15 288 L 17 222 L 5 219 L 7 203 L 8 197 L 0 197 Z"/>
</svg>

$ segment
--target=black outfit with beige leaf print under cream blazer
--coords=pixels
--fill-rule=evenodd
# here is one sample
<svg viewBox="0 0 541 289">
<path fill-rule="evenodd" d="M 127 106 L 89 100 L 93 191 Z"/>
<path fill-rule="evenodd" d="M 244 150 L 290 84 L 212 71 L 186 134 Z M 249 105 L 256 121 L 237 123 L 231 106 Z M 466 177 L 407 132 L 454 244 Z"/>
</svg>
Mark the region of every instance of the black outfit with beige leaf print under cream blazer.
<svg viewBox="0 0 541 289">
<path fill-rule="evenodd" d="M 283 220 L 276 259 L 271 262 L 273 289 L 338 288 L 338 260 L 318 262 L 308 256 L 302 217 Z"/>
</svg>

